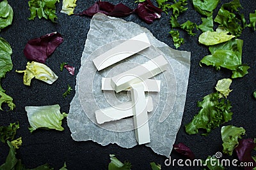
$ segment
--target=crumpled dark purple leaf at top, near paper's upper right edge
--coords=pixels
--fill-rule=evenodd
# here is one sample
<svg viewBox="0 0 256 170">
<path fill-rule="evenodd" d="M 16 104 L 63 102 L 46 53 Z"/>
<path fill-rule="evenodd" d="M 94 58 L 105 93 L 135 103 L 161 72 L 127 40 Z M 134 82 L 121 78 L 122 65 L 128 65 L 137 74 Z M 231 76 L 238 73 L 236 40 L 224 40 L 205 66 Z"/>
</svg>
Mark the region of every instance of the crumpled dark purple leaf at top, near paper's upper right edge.
<svg viewBox="0 0 256 170">
<path fill-rule="evenodd" d="M 154 4 L 152 4 L 150 0 L 139 3 L 138 7 L 134 11 L 147 24 L 152 24 L 154 20 L 160 18 L 162 12 L 162 10 L 154 6 Z"/>
</svg>

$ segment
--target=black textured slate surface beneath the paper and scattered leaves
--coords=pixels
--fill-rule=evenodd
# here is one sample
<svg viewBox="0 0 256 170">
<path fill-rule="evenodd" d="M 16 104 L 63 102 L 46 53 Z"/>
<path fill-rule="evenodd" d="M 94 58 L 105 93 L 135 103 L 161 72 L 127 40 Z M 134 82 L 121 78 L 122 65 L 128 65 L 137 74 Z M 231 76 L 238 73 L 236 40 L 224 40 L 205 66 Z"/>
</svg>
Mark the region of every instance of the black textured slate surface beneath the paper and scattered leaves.
<svg viewBox="0 0 256 170">
<path fill-rule="evenodd" d="M 62 1 L 61 1 L 62 2 Z M 77 0 L 75 12 L 85 10 L 95 1 Z M 111 3 L 124 3 L 130 8 L 136 8 L 134 1 L 109 1 Z M 153 0 L 155 3 L 155 1 Z M 223 0 L 222 3 L 229 1 Z M 134 148 L 125 149 L 117 145 L 101 146 L 92 141 L 77 142 L 72 140 L 70 131 L 67 126 L 67 120 L 63 120 L 65 131 L 44 131 L 36 130 L 32 134 L 28 131 L 29 123 L 26 116 L 25 106 L 44 106 L 50 104 L 60 104 L 61 111 L 68 113 L 69 104 L 74 97 L 74 90 L 67 98 L 63 98 L 62 94 L 67 89 L 67 84 L 71 87 L 76 85 L 76 76 L 72 76 L 67 71 L 60 71 L 60 63 L 68 62 L 71 66 L 76 67 L 76 74 L 79 70 L 80 58 L 86 40 L 86 34 L 90 29 L 89 17 L 78 17 L 75 15 L 68 16 L 60 13 L 61 3 L 57 4 L 57 23 L 50 20 L 35 18 L 28 20 L 30 11 L 28 1 L 9 0 L 9 4 L 14 11 L 12 25 L 6 27 L 0 32 L 0 36 L 10 43 L 13 49 L 12 61 L 13 70 L 6 74 L 6 78 L 1 80 L 3 89 L 6 94 L 13 97 L 16 104 L 14 111 L 7 111 L 8 107 L 3 106 L 4 111 L 0 111 L 0 125 L 8 125 L 11 122 L 20 123 L 20 129 L 17 131 L 17 138 L 22 137 L 22 146 L 17 150 L 17 157 L 22 160 L 27 168 L 34 168 L 45 163 L 55 169 L 60 169 L 64 162 L 67 163 L 68 169 L 107 169 L 109 163 L 109 154 L 115 153 L 118 159 L 124 161 L 129 160 L 132 163 L 132 169 L 150 169 L 150 162 L 161 164 L 163 169 L 202 169 L 202 167 L 179 167 L 164 166 L 166 157 L 157 155 L 146 146 L 135 146 Z M 255 0 L 241 0 L 246 20 L 249 20 L 249 13 L 253 13 L 256 9 Z M 180 22 L 191 20 L 200 24 L 200 16 L 188 1 L 189 10 L 180 16 Z M 218 6 L 220 8 L 220 4 Z M 214 13 L 216 16 L 216 13 Z M 136 22 L 143 27 L 147 27 L 154 36 L 167 45 L 173 46 L 172 38 L 168 32 L 170 25 L 168 18 L 170 16 L 163 13 L 160 20 L 153 24 L 145 24 L 136 15 L 124 17 L 127 21 Z M 24 46 L 29 39 L 37 38 L 50 32 L 58 31 L 62 34 L 64 41 L 56 49 L 56 51 L 47 59 L 47 66 L 59 76 L 59 79 L 52 85 L 48 85 L 42 81 L 33 80 L 30 87 L 23 85 L 23 74 L 15 73 L 15 69 L 23 70 L 28 60 L 23 54 Z M 182 142 L 193 150 L 198 159 L 205 159 L 208 155 L 214 155 L 216 152 L 222 151 L 222 142 L 220 127 L 214 129 L 207 137 L 200 134 L 188 135 L 185 132 L 184 125 L 188 124 L 193 116 L 198 113 L 199 108 L 196 106 L 197 101 L 202 97 L 214 92 L 216 82 L 221 78 L 229 78 L 231 72 L 226 69 L 216 71 L 212 67 L 200 67 L 199 61 L 208 50 L 204 45 L 198 44 L 198 34 L 194 37 L 188 36 L 185 32 L 181 33 L 186 43 L 180 46 L 179 50 L 187 50 L 191 52 L 191 71 L 189 74 L 189 85 L 186 97 L 186 105 L 184 108 L 184 116 L 182 125 L 177 134 L 176 143 Z M 249 64 L 251 67 L 249 74 L 243 78 L 233 80 L 230 89 L 233 91 L 228 96 L 232 103 L 232 111 L 234 113 L 232 120 L 224 125 L 236 125 L 244 127 L 246 135 L 243 138 L 255 138 L 255 114 L 256 100 L 253 99 L 253 91 L 256 90 L 256 50 L 255 38 L 256 32 L 246 28 L 240 37 L 244 40 L 243 46 L 243 63 Z M 8 155 L 8 146 L 0 143 L 0 164 Z M 172 159 L 182 159 L 175 151 L 171 154 Z M 223 159 L 237 159 L 234 153 L 231 157 L 223 155 Z M 226 169 L 239 169 L 238 167 L 227 167 Z M 243 169 L 243 168 L 240 168 Z"/>
</svg>

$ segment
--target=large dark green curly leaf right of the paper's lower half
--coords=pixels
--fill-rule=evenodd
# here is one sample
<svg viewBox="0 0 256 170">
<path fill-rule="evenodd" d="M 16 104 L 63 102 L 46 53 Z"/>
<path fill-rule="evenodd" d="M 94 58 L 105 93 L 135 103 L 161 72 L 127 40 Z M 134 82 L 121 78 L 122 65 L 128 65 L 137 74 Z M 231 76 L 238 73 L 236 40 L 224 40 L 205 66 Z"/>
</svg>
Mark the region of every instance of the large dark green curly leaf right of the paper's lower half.
<svg viewBox="0 0 256 170">
<path fill-rule="evenodd" d="M 205 129 L 206 133 L 202 135 L 206 136 L 212 129 L 232 118 L 230 101 L 220 99 L 218 92 L 205 96 L 203 101 L 198 101 L 197 106 L 201 110 L 189 124 L 185 125 L 188 134 L 196 134 L 198 129 Z"/>
</svg>

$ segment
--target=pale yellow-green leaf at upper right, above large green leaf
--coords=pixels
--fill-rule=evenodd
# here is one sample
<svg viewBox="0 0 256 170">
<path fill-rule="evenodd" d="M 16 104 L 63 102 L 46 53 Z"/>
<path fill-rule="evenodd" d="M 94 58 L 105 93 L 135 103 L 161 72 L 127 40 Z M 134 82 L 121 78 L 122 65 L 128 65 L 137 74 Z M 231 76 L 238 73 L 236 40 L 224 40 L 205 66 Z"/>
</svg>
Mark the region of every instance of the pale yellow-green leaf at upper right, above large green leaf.
<svg viewBox="0 0 256 170">
<path fill-rule="evenodd" d="M 198 41 L 204 45 L 217 45 L 235 37 L 233 35 L 228 35 L 228 33 L 228 31 L 219 27 L 216 31 L 203 32 L 200 34 Z"/>
</svg>

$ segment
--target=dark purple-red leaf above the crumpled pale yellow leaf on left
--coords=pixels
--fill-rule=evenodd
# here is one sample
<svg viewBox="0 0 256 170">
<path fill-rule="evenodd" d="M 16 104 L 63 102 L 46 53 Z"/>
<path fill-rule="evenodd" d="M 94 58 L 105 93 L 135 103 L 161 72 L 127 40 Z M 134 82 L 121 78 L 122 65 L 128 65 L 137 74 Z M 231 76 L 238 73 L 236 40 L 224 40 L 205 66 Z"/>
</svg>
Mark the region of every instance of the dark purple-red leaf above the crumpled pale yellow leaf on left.
<svg viewBox="0 0 256 170">
<path fill-rule="evenodd" d="M 63 42 L 59 32 L 52 32 L 41 36 L 40 38 L 31 39 L 24 48 L 24 55 L 28 60 L 45 63 L 45 60 L 54 50 Z"/>
</svg>

